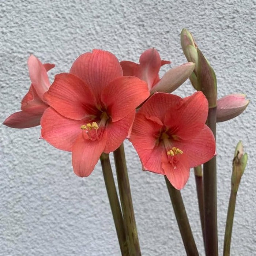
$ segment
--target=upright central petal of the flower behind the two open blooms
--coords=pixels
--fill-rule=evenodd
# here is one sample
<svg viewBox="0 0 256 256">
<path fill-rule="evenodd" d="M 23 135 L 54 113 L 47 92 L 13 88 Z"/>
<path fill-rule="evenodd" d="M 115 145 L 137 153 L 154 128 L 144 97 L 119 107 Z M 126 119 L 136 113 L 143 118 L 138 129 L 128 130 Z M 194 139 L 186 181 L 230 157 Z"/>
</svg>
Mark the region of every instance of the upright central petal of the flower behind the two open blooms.
<svg viewBox="0 0 256 256">
<path fill-rule="evenodd" d="M 140 78 L 146 81 L 151 89 L 161 67 L 160 55 L 156 49 L 148 49 L 141 54 L 139 62 L 142 69 Z"/>
</svg>

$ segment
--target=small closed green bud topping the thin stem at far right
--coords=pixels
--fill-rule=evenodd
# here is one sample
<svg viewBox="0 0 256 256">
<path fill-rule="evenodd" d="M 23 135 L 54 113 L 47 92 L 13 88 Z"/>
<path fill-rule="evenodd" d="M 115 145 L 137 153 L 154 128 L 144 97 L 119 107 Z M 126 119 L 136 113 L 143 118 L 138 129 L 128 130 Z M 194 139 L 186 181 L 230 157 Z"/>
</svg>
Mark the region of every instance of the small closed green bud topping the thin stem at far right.
<svg viewBox="0 0 256 256">
<path fill-rule="evenodd" d="M 237 192 L 241 177 L 244 173 L 245 166 L 248 160 L 247 153 L 244 153 L 244 146 L 240 140 L 237 143 L 233 159 L 233 171 L 231 176 L 231 189 Z"/>
</svg>

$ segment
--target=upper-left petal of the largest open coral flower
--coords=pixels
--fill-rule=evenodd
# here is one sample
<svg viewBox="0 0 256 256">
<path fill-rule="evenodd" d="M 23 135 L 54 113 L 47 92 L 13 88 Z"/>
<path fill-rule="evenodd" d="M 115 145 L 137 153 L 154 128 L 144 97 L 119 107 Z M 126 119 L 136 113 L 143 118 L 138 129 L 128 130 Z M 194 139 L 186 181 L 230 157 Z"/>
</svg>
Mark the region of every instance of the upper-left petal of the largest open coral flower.
<svg viewBox="0 0 256 256">
<path fill-rule="evenodd" d="M 55 76 L 44 99 L 61 115 L 71 119 L 94 119 L 98 112 L 90 87 L 77 76 L 68 73 Z"/>
</svg>

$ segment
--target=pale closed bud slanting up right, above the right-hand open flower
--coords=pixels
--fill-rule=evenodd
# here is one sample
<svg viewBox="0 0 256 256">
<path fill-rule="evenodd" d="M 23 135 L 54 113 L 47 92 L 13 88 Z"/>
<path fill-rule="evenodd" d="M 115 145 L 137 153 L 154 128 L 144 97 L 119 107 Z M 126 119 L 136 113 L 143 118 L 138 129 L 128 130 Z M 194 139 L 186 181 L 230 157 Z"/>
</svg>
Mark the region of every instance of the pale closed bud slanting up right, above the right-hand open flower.
<svg viewBox="0 0 256 256">
<path fill-rule="evenodd" d="M 195 63 L 189 62 L 167 71 L 157 84 L 150 90 L 153 94 L 156 91 L 163 93 L 172 93 L 182 83 L 185 82 L 193 72 Z"/>
</svg>

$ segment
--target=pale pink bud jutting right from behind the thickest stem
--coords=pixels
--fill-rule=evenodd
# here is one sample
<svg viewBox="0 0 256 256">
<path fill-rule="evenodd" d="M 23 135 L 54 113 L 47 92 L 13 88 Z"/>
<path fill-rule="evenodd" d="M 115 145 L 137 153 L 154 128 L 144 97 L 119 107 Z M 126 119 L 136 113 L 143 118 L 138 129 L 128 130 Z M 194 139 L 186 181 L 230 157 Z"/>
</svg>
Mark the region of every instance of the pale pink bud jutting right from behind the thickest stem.
<svg viewBox="0 0 256 256">
<path fill-rule="evenodd" d="M 248 106 L 245 94 L 234 93 L 217 100 L 217 122 L 223 122 L 239 116 Z"/>
</svg>

